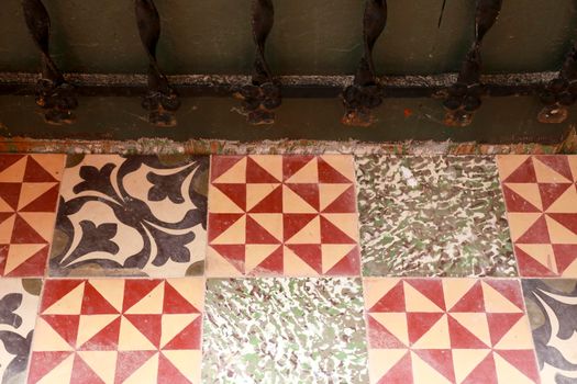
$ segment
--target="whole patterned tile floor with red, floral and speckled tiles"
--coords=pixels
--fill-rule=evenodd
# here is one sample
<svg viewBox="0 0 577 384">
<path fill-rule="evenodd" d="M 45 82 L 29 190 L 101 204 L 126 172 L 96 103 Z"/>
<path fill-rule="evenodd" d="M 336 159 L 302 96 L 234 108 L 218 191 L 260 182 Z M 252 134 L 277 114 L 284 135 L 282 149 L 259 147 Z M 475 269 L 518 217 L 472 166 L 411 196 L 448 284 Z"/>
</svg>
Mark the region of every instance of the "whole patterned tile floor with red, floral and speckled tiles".
<svg viewBox="0 0 577 384">
<path fill-rule="evenodd" d="M 0 155 L 0 382 L 577 383 L 576 182 L 577 156 Z"/>
</svg>

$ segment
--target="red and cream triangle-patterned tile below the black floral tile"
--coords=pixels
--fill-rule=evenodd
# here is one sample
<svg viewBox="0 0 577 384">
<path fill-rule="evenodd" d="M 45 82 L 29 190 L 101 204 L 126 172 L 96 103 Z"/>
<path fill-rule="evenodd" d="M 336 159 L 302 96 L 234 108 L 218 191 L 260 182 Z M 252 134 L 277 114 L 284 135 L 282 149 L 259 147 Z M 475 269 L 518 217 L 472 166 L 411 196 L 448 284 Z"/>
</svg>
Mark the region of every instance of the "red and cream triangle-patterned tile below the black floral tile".
<svg viewBox="0 0 577 384">
<path fill-rule="evenodd" d="M 46 281 L 29 383 L 200 383 L 203 283 Z"/>
</svg>

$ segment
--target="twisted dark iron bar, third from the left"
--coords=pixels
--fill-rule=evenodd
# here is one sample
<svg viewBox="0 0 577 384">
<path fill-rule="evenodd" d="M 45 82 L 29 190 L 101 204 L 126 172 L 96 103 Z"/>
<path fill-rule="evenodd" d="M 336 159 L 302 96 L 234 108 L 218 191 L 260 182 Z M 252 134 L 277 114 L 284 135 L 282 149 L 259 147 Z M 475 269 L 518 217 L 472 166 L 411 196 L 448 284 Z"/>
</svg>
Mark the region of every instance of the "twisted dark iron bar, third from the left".
<svg viewBox="0 0 577 384">
<path fill-rule="evenodd" d="M 243 114 L 251 124 L 274 124 L 274 110 L 281 104 L 280 82 L 273 78 L 265 57 L 265 44 L 275 22 L 273 0 L 253 0 L 252 29 L 256 46 L 251 83 L 235 95 L 243 100 Z"/>
</svg>

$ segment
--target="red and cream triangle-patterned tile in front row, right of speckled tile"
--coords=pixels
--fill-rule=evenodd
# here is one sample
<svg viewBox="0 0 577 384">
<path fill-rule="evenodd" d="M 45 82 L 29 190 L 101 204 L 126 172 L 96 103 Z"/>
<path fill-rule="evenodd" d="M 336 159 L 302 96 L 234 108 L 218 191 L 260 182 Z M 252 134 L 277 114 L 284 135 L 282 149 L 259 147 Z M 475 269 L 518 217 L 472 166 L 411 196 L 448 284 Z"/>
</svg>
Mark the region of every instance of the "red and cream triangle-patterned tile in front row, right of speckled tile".
<svg viewBox="0 0 577 384">
<path fill-rule="evenodd" d="M 371 383 L 539 383 L 517 280 L 365 280 Z"/>
</svg>

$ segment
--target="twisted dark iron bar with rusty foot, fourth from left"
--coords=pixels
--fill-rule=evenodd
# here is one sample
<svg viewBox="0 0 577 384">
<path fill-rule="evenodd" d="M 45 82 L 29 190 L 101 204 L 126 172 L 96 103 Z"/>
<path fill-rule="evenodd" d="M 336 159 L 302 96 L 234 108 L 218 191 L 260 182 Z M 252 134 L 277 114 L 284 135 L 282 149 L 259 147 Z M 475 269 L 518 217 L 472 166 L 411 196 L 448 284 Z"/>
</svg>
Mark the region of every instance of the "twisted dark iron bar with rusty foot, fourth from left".
<svg viewBox="0 0 577 384">
<path fill-rule="evenodd" d="M 382 103 L 384 91 L 377 81 L 373 48 L 387 24 L 387 0 L 367 0 L 363 16 L 364 53 L 353 84 L 344 89 L 343 124 L 369 126 L 375 122 L 371 110 Z"/>
</svg>

